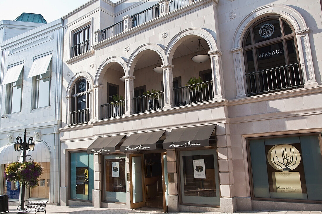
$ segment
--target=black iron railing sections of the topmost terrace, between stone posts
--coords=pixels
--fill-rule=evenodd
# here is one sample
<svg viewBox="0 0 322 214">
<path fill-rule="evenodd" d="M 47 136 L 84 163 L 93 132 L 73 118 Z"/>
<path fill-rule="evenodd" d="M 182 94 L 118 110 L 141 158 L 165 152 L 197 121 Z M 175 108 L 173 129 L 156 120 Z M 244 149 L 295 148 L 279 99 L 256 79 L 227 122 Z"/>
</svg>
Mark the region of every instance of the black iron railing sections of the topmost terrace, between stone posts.
<svg viewBox="0 0 322 214">
<path fill-rule="evenodd" d="M 169 12 L 177 10 L 185 5 L 193 3 L 194 0 L 170 0 L 169 1 Z M 131 15 L 132 28 L 140 24 L 153 20 L 160 16 L 160 4 L 155 4 L 139 13 Z M 106 40 L 112 36 L 115 36 L 124 31 L 124 21 L 120 21 L 116 24 L 113 24 L 105 29 L 102 32 L 102 41 Z M 76 55 L 77 56 L 77 55 Z"/>
</svg>

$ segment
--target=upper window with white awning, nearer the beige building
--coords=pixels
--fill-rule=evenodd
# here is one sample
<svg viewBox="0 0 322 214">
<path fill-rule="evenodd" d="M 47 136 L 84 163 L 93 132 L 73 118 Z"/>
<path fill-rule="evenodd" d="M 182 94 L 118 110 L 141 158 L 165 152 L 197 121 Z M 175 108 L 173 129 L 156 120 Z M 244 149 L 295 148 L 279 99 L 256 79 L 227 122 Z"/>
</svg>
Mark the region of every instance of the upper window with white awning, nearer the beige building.
<svg viewBox="0 0 322 214">
<path fill-rule="evenodd" d="M 28 77 L 34 77 L 33 108 L 50 105 L 50 80 L 52 75 L 52 54 L 36 58 Z"/>
</svg>

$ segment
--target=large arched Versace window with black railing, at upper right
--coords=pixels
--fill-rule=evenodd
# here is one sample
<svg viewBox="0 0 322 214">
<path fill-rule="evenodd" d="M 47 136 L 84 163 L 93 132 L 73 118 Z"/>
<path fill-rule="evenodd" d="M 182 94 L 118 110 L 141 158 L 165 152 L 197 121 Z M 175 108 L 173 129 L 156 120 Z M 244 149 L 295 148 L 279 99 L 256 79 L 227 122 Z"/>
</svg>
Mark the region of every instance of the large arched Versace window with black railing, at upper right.
<svg viewBox="0 0 322 214">
<path fill-rule="evenodd" d="M 288 21 L 268 17 L 255 22 L 243 50 L 248 96 L 303 87 L 295 30 Z"/>
</svg>

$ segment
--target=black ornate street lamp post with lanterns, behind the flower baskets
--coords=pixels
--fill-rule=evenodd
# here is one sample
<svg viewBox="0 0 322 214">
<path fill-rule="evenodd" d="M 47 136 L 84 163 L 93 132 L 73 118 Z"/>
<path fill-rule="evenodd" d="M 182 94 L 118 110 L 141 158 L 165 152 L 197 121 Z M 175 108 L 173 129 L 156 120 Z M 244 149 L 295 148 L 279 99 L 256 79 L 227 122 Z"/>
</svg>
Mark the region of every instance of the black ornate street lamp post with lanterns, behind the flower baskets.
<svg viewBox="0 0 322 214">
<path fill-rule="evenodd" d="M 29 149 L 29 151 L 33 151 L 33 149 L 35 148 L 35 144 L 33 143 L 33 137 L 30 137 L 28 139 L 28 142 L 26 142 L 26 137 L 27 137 L 27 133 L 26 133 L 26 130 L 24 130 L 24 142 L 22 142 L 21 137 L 18 136 L 16 138 L 17 142 L 14 144 L 14 151 L 17 151 L 17 152 L 19 150 L 23 151 L 23 155 L 21 156 L 23 163 L 26 162 L 26 157 L 30 156 L 30 155 L 26 155 L 26 150 Z M 20 140 L 20 142 L 19 142 L 19 140 Z M 21 197 L 20 209 L 21 210 L 24 210 L 24 189 L 25 189 L 25 182 L 21 182 L 21 194 L 20 194 L 20 197 Z"/>
</svg>

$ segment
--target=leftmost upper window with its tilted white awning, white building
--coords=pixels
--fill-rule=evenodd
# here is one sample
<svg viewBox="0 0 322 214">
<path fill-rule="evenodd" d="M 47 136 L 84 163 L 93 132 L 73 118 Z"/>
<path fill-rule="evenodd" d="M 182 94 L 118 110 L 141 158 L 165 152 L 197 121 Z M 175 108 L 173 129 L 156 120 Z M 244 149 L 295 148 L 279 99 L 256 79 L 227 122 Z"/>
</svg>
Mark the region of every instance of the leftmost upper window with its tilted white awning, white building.
<svg viewBox="0 0 322 214">
<path fill-rule="evenodd" d="M 21 111 L 22 84 L 24 64 L 9 67 L 2 85 L 7 85 L 7 112 Z"/>
</svg>

